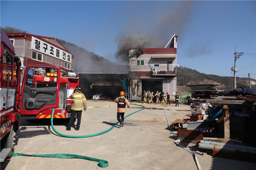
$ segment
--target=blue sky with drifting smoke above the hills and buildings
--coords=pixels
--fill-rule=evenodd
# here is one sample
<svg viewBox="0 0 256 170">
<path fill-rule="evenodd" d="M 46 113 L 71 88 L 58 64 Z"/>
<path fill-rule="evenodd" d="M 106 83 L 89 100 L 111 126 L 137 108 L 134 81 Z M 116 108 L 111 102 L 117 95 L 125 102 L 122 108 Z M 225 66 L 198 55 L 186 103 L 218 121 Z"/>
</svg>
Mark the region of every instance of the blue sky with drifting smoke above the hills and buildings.
<svg viewBox="0 0 256 170">
<path fill-rule="evenodd" d="M 177 63 L 206 74 L 256 79 L 256 1 L 0 1 L 0 26 L 56 37 L 122 64 L 121 37 L 156 47 L 178 36 Z M 153 37 L 153 38 L 152 38 Z"/>
</svg>

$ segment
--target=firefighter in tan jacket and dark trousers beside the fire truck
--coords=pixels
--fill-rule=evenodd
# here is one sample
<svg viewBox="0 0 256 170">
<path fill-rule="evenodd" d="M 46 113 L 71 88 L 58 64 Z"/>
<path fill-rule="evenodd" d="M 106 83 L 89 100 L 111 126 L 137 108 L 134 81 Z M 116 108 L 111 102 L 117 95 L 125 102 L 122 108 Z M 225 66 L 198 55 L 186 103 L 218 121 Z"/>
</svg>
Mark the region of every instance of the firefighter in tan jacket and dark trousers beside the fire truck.
<svg viewBox="0 0 256 170">
<path fill-rule="evenodd" d="M 70 99 L 73 99 L 73 103 L 71 106 L 72 111 L 71 111 L 70 121 L 69 121 L 69 124 L 68 124 L 66 130 L 69 130 L 69 131 L 71 130 L 71 126 L 73 124 L 74 116 L 76 113 L 77 113 L 77 124 L 76 124 L 75 130 L 79 130 L 80 124 L 81 124 L 82 111 L 83 111 L 83 109 L 84 109 L 84 111 L 86 111 L 86 108 L 87 108 L 86 98 L 85 98 L 84 94 L 82 94 L 81 86 L 79 86 L 79 85 L 76 86 L 73 94 L 70 95 Z"/>
</svg>

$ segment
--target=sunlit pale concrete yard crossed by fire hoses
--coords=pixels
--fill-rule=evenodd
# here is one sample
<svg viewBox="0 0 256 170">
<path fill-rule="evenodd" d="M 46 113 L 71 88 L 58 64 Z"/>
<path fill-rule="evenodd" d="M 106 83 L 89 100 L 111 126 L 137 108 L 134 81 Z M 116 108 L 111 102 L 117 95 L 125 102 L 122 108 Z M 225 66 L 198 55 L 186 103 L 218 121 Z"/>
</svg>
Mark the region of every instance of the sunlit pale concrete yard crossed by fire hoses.
<svg viewBox="0 0 256 170">
<path fill-rule="evenodd" d="M 90 106 L 116 105 L 111 101 L 88 100 Z M 188 105 L 168 105 L 169 122 L 187 118 Z M 55 154 L 69 153 L 107 160 L 106 170 L 196 170 L 192 155 L 174 143 L 168 130 L 161 104 L 144 104 L 147 108 L 129 116 L 124 127 L 116 125 L 110 132 L 91 138 L 63 138 L 55 134 L 50 119 L 28 122 L 21 121 L 15 153 Z M 131 105 L 126 115 L 140 109 Z M 116 123 L 116 107 L 88 108 L 82 114 L 79 131 L 65 130 L 64 120 L 55 120 L 55 128 L 62 134 L 85 135 L 102 132 Z M 176 131 L 175 131 L 176 132 Z M 195 144 L 182 143 L 192 151 L 199 150 Z M 203 170 L 255 170 L 256 164 L 212 157 L 210 152 L 197 156 Z M 80 159 L 58 159 L 42 157 L 12 157 L 1 163 L 1 170 L 93 170 L 101 169 L 97 162 Z"/>
</svg>

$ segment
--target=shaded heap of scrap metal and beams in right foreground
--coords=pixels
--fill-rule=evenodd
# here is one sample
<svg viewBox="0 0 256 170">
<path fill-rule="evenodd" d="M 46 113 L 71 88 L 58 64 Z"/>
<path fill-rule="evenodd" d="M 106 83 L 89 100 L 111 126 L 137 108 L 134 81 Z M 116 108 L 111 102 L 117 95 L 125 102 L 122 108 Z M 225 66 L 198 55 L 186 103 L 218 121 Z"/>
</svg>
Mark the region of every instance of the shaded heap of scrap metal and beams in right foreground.
<svg viewBox="0 0 256 170">
<path fill-rule="evenodd" d="M 214 157 L 256 163 L 256 95 L 240 94 L 213 96 L 211 91 L 209 98 L 191 98 L 189 118 L 173 121 L 172 128 L 182 142 L 197 143 Z"/>
</svg>

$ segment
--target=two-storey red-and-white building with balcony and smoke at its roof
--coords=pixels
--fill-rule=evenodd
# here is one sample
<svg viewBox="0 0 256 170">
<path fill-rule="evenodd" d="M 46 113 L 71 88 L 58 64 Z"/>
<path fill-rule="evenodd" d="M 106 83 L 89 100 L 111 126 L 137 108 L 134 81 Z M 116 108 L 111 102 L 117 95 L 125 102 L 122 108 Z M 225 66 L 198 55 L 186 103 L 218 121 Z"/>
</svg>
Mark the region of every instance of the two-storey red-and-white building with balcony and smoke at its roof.
<svg viewBox="0 0 256 170">
<path fill-rule="evenodd" d="M 129 50 L 129 99 L 141 100 L 145 91 L 170 94 L 174 101 L 177 91 L 177 36 L 170 48 Z"/>
</svg>

